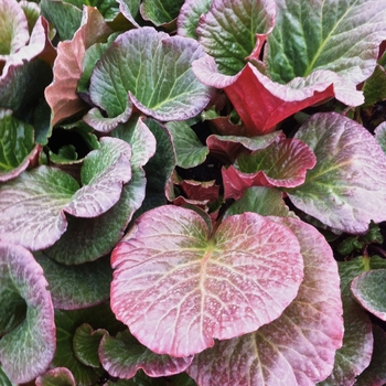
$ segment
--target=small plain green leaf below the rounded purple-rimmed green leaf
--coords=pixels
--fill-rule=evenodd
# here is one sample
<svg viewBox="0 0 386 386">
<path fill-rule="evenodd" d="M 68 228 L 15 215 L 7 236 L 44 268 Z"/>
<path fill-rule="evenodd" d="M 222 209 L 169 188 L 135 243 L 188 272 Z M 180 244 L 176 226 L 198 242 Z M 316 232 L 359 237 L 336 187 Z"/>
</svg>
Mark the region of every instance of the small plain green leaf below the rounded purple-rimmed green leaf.
<svg viewBox="0 0 386 386">
<path fill-rule="evenodd" d="M 202 144 L 199 137 L 184 121 L 172 121 L 165 124 L 169 132 L 172 136 L 176 165 L 190 169 L 203 163 L 210 150 Z"/>
</svg>

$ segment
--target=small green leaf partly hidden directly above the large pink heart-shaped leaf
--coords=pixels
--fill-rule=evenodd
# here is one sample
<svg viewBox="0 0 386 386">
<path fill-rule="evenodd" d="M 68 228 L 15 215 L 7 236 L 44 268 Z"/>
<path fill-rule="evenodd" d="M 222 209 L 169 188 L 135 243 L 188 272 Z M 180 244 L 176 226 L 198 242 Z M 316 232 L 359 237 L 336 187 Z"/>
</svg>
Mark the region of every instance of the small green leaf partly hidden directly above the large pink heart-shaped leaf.
<svg viewBox="0 0 386 386">
<path fill-rule="evenodd" d="M 282 192 L 276 187 L 265 186 L 248 187 L 242 199 L 229 206 L 224 218 L 244 212 L 255 212 L 261 216 L 294 216 L 282 200 Z"/>
</svg>

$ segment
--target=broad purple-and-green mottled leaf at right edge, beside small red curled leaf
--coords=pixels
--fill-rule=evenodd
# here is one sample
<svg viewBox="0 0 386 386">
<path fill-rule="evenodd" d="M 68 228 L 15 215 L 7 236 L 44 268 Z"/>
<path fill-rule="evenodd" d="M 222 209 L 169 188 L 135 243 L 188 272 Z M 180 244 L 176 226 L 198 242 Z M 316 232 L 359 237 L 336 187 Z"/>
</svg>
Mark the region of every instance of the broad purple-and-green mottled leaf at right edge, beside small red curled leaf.
<svg viewBox="0 0 386 386">
<path fill-rule="evenodd" d="M 342 115 L 315 114 L 294 136 L 317 156 L 291 202 L 323 224 L 364 233 L 386 219 L 386 157 L 374 137 Z"/>
</svg>

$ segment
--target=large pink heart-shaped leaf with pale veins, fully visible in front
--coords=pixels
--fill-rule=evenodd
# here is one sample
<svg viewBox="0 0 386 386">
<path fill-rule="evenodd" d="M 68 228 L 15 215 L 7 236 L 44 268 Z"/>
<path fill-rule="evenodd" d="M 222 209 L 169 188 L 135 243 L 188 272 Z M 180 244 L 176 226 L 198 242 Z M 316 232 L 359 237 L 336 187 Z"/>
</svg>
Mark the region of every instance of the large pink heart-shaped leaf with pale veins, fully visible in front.
<svg viewBox="0 0 386 386">
<path fill-rule="evenodd" d="M 111 309 L 147 347 L 189 356 L 278 318 L 302 281 L 299 243 L 255 213 L 211 240 L 195 212 L 160 206 L 137 219 L 111 257 Z"/>
</svg>

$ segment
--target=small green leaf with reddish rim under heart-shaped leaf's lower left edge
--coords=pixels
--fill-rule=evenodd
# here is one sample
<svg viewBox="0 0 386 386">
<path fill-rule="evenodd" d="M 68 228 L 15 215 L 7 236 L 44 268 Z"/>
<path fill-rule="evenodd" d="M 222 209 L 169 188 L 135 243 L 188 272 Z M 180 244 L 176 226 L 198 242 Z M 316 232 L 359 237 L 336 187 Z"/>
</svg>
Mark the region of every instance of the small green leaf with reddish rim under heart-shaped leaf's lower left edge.
<svg viewBox="0 0 386 386">
<path fill-rule="evenodd" d="M 104 368 L 120 378 L 132 378 L 140 368 L 151 377 L 178 374 L 186 369 L 193 360 L 193 356 L 154 354 L 128 330 L 118 333 L 116 337 L 106 334 L 100 342 L 99 356 Z"/>
</svg>

